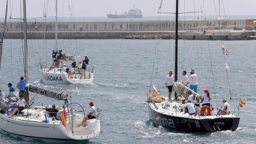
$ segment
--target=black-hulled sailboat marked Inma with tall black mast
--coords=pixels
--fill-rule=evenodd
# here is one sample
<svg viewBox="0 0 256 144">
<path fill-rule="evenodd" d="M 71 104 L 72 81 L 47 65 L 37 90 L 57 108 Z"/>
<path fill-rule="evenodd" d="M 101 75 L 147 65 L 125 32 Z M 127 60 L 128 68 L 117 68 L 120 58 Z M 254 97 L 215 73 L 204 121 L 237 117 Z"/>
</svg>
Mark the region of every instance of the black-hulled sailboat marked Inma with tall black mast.
<svg viewBox="0 0 256 144">
<path fill-rule="evenodd" d="M 176 0 L 176 33 L 175 33 L 175 80 L 173 83 L 173 90 L 177 93 L 175 99 L 168 100 L 163 96 L 159 96 L 157 89 L 152 85 L 153 91 L 150 92 L 146 101 L 148 102 L 149 118 L 154 123 L 165 128 L 184 131 L 184 132 L 216 132 L 216 131 L 235 131 L 239 125 L 240 117 L 229 113 L 227 115 L 220 115 L 219 110 L 214 110 L 209 107 L 206 111 L 202 111 L 201 106 L 197 106 L 195 114 L 191 115 L 185 113 L 183 105 L 184 99 L 188 98 L 186 92 L 189 89 L 184 84 L 177 82 L 178 78 L 178 5 L 179 0 Z M 160 5 L 161 6 L 161 5 Z M 200 97 L 198 93 L 192 91 L 194 100 L 200 104 Z M 239 109 L 235 109 L 239 114 Z"/>
</svg>

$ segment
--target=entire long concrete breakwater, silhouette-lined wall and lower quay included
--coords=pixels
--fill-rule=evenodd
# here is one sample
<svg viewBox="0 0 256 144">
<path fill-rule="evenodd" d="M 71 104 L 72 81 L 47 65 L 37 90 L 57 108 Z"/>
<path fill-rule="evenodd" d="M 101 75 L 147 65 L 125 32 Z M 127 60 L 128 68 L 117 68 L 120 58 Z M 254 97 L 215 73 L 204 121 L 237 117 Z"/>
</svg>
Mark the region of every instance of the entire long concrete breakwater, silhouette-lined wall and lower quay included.
<svg viewBox="0 0 256 144">
<path fill-rule="evenodd" d="M 219 27 L 218 27 L 219 25 Z M 55 38 L 55 22 L 28 22 L 29 39 Z M 3 22 L 0 22 L 0 30 Z M 22 38 L 23 23 L 7 22 L 5 38 Z M 63 39 L 113 39 L 130 35 L 174 35 L 175 21 L 76 21 L 58 22 L 58 38 Z M 203 32 L 206 31 L 206 35 Z M 195 19 L 180 20 L 179 38 L 241 40 L 253 36 L 254 31 L 246 26 L 245 19 Z M 217 36 L 217 35 L 223 36 Z M 211 36 L 209 36 L 211 35 Z M 195 38 L 196 37 L 196 38 Z M 209 38 L 210 37 L 210 38 Z"/>
</svg>

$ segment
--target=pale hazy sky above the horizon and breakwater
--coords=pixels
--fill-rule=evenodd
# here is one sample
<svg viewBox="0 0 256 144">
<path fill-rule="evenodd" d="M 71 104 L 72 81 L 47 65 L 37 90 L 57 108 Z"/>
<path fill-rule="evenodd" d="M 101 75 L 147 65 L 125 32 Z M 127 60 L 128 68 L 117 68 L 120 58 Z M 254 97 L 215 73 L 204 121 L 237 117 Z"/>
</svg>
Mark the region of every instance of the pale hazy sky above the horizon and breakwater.
<svg viewBox="0 0 256 144">
<path fill-rule="evenodd" d="M 185 5 L 184 5 L 185 1 Z M 180 12 L 193 12 L 195 1 L 195 11 L 200 11 L 202 0 L 180 0 Z M 213 1 L 215 1 L 218 13 L 218 0 L 204 0 L 205 15 L 215 15 Z M 162 12 L 174 12 L 175 0 L 163 0 Z M 6 0 L 1 0 L 0 17 L 4 17 Z M 12 0 L 12 17 L 20 15 L 20 1 Z M 42 5 L 41 5 L 42 3 Z M 47 15 L 55 15 L 54 0 L 27 0 L 27 17 L 38 17 L 43 15 L 44 3 L 48 3 Z M 74 17 L 106 17 L 106 14 L 112 14 L 115 11 L 121 14 L 122 11 L 128 11 L 135 7 L 142 10 L 144 16 L 157 16 L 159 0 L 58 0 L 58 14 L 69 15 L 68 3 L 72 9 Z M 226 15 L 253 15 L 256 8 L 256 0 L 223 0 Z M 10 0 L 8 0 L 8 15 L 10 14 Z M 46 10 L 45 10 L 46 11 Z M 192 14 L 194 15 L 194 14 Z M 201 15 L 201 14 L 196 14 Z M 204 15 L 204 13 L 203 13 Z M 221 15 L 224 15 L 224 9 L 221 0 Z M 9 16 L 8 16 L 9 17 Z"/>
</svg>

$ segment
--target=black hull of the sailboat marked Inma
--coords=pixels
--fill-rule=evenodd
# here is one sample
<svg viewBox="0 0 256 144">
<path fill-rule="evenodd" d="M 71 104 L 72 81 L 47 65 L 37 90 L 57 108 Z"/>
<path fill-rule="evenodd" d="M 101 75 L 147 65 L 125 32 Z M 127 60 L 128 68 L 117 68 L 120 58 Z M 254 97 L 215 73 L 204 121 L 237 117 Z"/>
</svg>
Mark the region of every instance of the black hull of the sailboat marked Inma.
<svg viewBox="0 0 256 144">
<path fill-rule="evenodd" d="M 149 104 L 149 118 L 154 123 L 176 131 L 184 132 L 216 132 L 231 130 L 235 131 L 239 124 L 239 117 L 217 117 L 196 119 L 194 117 L 179 117 L 157 112 Z"/>
</svg>

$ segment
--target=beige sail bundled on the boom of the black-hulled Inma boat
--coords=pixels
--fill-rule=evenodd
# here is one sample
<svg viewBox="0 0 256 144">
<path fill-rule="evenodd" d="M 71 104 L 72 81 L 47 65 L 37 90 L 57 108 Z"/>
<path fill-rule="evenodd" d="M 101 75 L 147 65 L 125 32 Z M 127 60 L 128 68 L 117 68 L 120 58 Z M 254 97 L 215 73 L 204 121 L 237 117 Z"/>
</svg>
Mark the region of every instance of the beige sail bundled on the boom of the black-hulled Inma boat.
<svg viewBox="0 0 256 144">
<path fill-rule="evenodd" d="M 186 87 L 181 82 L 173 83 L 173 91 L 175 91 L 177 93 L 177 95 L 183 96 L 185 99 L 187 99 L 189 97 L 189 95 L 187 95 L 188 90 L 191 90 L 191 89 Z M 192 91 L 192 94 L 194 95 L 195 102 L 200 102 L 201 95 L 199 95 L 198 93 L 195 93 L 193 90 L 191 90 L 191 91 Z"/>
</svg>

